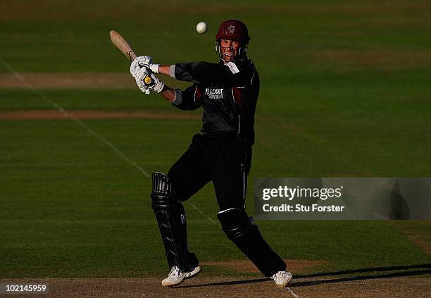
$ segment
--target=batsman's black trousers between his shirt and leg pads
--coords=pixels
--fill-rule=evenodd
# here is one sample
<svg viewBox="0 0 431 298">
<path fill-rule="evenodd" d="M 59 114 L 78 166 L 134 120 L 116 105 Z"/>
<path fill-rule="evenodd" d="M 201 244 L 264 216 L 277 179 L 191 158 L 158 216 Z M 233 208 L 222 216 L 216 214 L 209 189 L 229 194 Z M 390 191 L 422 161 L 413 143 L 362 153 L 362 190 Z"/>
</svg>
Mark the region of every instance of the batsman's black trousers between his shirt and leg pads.
<svg viewBox="0 0 431 298">
<path fill-rule="evenodd" d="M 168 177 L 180 201 L 189 199 L 206 183 L 213 181 L 220 211 L 230 208 L 245 210 L 250 167 L 251 147 L 245 139 L 220 139 L 196 134 L 189 149 L 170 168 Z"/>
</svg>

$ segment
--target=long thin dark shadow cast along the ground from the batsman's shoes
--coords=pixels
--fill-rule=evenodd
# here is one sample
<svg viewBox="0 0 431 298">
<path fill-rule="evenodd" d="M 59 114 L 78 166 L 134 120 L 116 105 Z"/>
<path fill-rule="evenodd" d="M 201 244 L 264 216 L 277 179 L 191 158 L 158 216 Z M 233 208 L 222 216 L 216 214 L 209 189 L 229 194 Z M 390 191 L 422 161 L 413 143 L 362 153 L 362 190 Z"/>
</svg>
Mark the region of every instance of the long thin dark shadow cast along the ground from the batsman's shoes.
<svg viewBox="0 0 431 298">
<path fill-rule="evenodd" d="M 348 270 L 348 271 L 294 275 L 294 280 L 292 283 L 289 283 L 289 287 L 304 287 L 308 285 L 320 285 L 325 283 L 342 283 L 342 282 L 354 281 L 354 280 L 373 280 L 378 278 L 398 278 L 398 277 L 404 277 L 404 276 L 431 274 L 431 270 L 413 270 L 413 269 L 431 269 L 431 264 L 375 267 L 375 268 L 363 268 L 363 269 Z M 345 275 L 345 274 L 354 274 L 354 273 L 371 273 L 371 272 L 379 272 L 379 271 L 401 271 L 401 272 L 372 274 L 372 275 L 357 275 L 357 276 L 350 276 L 345 278 L 332 278 L 328 280 L 310 280 L 310 281 L 304 281 L 304 282 L 295 282 L 295 280 L 297 280 L 298 278 L 316 278 L 316 277 L 322 277 L 322 276 Z M 180 285 L 177 287 L 209 287 L 209 286 L 218 286 L 218 285 L 242 285 L 247 283 L 263 283 L 268 281 L 270 281 L 270 279 L 268 278 L 254 278 L 250 280 L 232 280 L 232 281 L 218 282 L 218 283 L 205 283 L 201 285 Z"/>
</svg>

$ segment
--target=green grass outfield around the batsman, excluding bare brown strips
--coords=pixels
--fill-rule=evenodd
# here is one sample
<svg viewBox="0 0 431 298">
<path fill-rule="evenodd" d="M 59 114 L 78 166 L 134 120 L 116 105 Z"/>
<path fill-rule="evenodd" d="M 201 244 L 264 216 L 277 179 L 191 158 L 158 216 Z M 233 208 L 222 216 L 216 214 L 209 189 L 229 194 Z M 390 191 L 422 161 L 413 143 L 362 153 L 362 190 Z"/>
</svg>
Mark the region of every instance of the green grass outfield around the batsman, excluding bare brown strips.
<svg viewBox="0 0 431 298">
<path fill-rule="evenodd" d="M 111 29 L 156 62 L 215 61 L 218 23 L 244 20 L 261 74 L 251 214 L 254 177 L 430 176 L 426 1 L 182 1 L 151 8 L 142 1 L 71 3 L 1 1 L 0 75 L 11 67 L 23 77 L 127 73 L 108 39 Z M 154 13 L 142 13 L 149 10 Z M 209 34 L 194 32 L 199 20 L 208 22 Z M 0 112 L 52 109 L 44 99 L 71 110 L 182 113 L 138 89 L 8 88 L 0 89 Z M 166 172 L 201 125 L 185 119 L 82 123 L 147 174 Z M 167 272 L 150 180 L 139 168 L 71 120 L 0 120 L 0 139 L 0 278 Z M 185 208 L 189 245 L 201 261 L 244 259 L 216 221 L 212 185 Z M 431 263 L 424 249 L 430 246 L 429 221 L 257 223 L 284 259 L 327 261 L 315 272 Z M 425 244 L 411 235 L 425 237 Z M 206 266 L 203 274 L 239 273 Z"/>
</svg>

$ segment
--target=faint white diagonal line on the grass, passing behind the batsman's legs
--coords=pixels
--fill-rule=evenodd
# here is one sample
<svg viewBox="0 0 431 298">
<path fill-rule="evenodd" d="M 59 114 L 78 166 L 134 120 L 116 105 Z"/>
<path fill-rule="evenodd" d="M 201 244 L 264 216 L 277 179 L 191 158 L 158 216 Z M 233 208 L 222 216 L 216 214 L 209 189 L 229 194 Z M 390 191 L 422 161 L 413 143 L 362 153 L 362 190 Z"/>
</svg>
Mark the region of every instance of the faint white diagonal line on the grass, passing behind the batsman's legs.
<svg viewBox="0 0 431 298">
<path fill-rule="evenodd" d="M 37 94 L 41 99 L 43 99 L 47 103 L 51 104 L 51 106 L 54 106 L 54 108 L 56 108 L 57 111 L 60 111 L 63 114 L 63 116 L 65 116 L 65 118 L 68 118 L 68 119 L 74 121 L 77 125 L 80 125 L 82 128 L 84 128 L 85 130 L 87 130 L 87 132 L 89 132 L 90 135 L 92 135 L 96 139 L 99 139 L 99 141 L 101 141 L 102 143 L 106 144 L 106 146 L 108 146 L 111 149 L 113 149 L 113 151 L 115 151 L 116 154 L 118 154 L 122 159 L 124 159 L 125 161 L 127 161 L 127 163 L 130 163 L 130 165 L 132 165 L 135 168 L 137 168 L 144 176 L 146 176 L 146 178 L 150 178 L 150 175 L 148 173 L 146 173 L 146 171 L 142 167 L 138 166 L 137 163 L 135 163 L 134 161 L 132 161 L 129 158 L 127 158 L 127 156 L 125 156 L 125 154 L 123 154 L 123 152 L 121 152 L 120 149 L 118 149 L 117 147 L 115 147 L 111 142 L 108 142 L 108 140 L 104 139 L 104 137 L 102 137 L 101 135 L 99 135 L 96 132 L 94 132 L 94 130 L 92 130 L 87 125 L 85 125 L 85 123 L 82 123 L 82 121 L 80 121 L 79 119 L 70 116 L 68 114 L 68 112 L 65 111 L 65 109 L 62 106 L 60 106 L 59 104 L 56 104 L 56 102 L 54 102 L 54 101 L 51 101 L 51 99 L 49 99 L 48 97 L 46 97 L 45 94 L 43 94 L 42 92 L 39 92 L 39 90 L 35 89 L 34 87 L 32 87 L 32 85 L 28 84 L 25 81 L 25 78 L 22 75 L 20 75 L 20 73 L 18 73 L 18 71 L 16 71 L 11 65 L 9 65 L 6 61 L 4 61 L 4 59 L 1 58 L 1 57 L 0 57 L 0 62 L 11 73 L 13 73 L 13 75 L 15 75 L 15 77 L 18 80 L 20 80 L 21 82 L 24 82 L 25 86 L 27 87 L 27 89 L 30 89 L 32 92 L 34 92 L 35 94 Z M 207 216 L 204 212 L 202 212 L 200 209 L 198 209 L 196 206 L 194 206 L 194 204 L 190 203 L 189 201 L 185 201 L 185 203 L 189 204 L 196 211 L 198 211 L 199 213 L 201 213 L 201 215 L 204 216 L 206 219 L 208 219 L 208 221 L 210 221 L 214 225 L 218 226 L 218 224 L 213 220 L 213 218 L 210 218 L 209 216 Z"/>
</svg>

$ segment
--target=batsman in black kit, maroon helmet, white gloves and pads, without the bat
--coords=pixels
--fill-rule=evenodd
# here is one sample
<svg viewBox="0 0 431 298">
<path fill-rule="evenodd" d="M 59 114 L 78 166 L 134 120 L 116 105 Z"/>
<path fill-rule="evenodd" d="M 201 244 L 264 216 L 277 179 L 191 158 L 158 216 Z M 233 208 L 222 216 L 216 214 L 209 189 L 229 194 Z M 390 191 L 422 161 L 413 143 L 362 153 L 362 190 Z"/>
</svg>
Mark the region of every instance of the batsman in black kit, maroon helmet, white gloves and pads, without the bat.
<svg viewBox="0 0 431 298">
<path fill-rule="evenodd" d="M 245 211 L 247 175 L 254 144 L 254 112 L 259 76 L 246 56 L 249 32 L 239 20 L 226 20 L 215 35 L 218 63 L 153 63 L 139 56 L 130 73 L 144 94 L 156 92 L 181 110 L 202 107 L 201 133 L 170 168 L 168 175 L 153 173 L 152 209 L 165 247 L 170 273 L 164 287 L 178 285 L 201 271 L 187 247 L 185 209 L 181 202 L 212 181 L 220 210 L 217 213 L 227 237 L 276 285 L 292 280 L 285 262 L 269 247 Z M 154 74 L 192 82 L 185 90 L 171 89 Z M 148 84 L 148 77 L 151 83 Z"/>
</svg>

